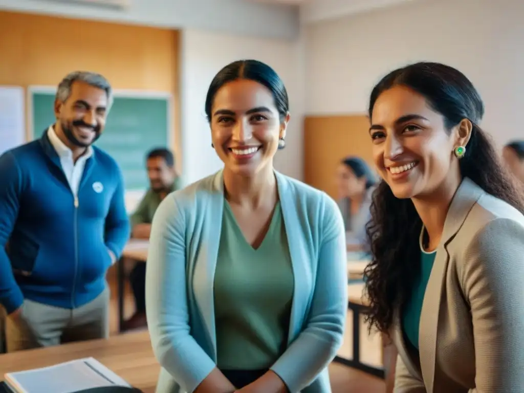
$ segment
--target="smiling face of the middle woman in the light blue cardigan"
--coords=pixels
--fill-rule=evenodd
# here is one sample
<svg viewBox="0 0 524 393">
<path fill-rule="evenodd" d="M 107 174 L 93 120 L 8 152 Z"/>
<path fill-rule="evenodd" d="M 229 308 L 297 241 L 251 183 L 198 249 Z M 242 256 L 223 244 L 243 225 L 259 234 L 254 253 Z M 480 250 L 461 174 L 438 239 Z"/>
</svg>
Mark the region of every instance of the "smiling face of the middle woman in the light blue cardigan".
<svg viewBox="0 0 524 393">
<path fill-rule="evenodd" d="M 280 121 L 274 97 L 264 85 L 245 79 L 224 84 L 211 112 L 211 137 L 225 170 L 253 176 L 272 167 L 289 114 Z"/>
</svg>

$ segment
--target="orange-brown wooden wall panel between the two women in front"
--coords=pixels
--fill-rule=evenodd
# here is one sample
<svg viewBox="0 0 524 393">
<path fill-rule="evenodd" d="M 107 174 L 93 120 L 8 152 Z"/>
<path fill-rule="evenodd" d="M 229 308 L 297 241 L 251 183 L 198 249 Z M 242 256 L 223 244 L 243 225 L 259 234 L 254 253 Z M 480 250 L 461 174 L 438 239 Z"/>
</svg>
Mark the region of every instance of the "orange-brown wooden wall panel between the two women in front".
<svg viewBox="0 0 524 393">
<path fill-rule="evenodd" d="M 360 156 L 370 165 L 372 143 L 366 115 L 306 116 L 304 180 L 336 198 L 335 170 L 346 156 Z"/>
</svg>

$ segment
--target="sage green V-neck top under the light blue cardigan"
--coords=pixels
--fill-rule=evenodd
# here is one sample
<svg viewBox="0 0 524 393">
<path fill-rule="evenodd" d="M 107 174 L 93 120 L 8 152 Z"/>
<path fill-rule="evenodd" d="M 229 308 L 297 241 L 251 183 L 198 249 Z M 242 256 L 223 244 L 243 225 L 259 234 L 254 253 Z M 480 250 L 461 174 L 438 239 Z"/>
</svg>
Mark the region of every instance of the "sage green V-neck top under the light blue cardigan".
<svg viewBox="0 0 524 393">
<path fill-rule="evenodd" d="M 220 369 L 261 370 L 277 361 L 287 348 L 293 287 L 280 203 L 255 249 L 226 201 L 214 280 Z"/>
</svg>

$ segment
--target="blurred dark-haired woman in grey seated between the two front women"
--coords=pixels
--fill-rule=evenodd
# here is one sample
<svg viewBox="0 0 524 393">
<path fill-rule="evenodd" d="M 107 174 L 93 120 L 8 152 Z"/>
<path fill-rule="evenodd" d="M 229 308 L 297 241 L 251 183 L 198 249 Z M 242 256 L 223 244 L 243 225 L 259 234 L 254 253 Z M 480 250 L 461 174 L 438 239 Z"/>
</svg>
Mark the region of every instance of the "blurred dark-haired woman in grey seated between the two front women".
<svg viewBox="0 0 524 393">
<path fill-rule="evenodd" d="M 375 174 L 362 158 L 347 157 L 341 161 L 336 178 L 347 250 L 368 252 L 366 224 L 370 218 L 371 195 L 377 182 Z"/>
</svg>

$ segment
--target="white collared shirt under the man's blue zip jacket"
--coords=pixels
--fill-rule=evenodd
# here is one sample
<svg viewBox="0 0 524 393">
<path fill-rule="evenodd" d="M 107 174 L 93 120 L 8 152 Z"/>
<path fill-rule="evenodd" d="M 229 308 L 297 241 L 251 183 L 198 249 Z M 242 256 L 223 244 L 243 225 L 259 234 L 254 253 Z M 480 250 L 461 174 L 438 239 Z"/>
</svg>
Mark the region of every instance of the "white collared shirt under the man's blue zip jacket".
<svg viewBox="0 0 524 393">
<path fill-rule="evenodd" d="M 75 198 L 78 196 L 78 189 L 80 187 L 80 180 L 82 179 L 82 174 L 84 173 L 85 161 L 93 155 L 93 148 L 89 146 L 85 153 L 77 159 L 77 162 L 73 161 L 73 152 L 71 149 L 60 140 L 56 132 L 54 132 L 53 126 L 50 126 L 47 132 L 49 141 L 53 145 L 54 150 L 56 150 L 58 157 L 60 158 L 60 164 L 62 165 L 62 170 L 67 178 L 69 187 Z"/>
</svg>

